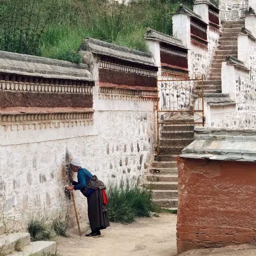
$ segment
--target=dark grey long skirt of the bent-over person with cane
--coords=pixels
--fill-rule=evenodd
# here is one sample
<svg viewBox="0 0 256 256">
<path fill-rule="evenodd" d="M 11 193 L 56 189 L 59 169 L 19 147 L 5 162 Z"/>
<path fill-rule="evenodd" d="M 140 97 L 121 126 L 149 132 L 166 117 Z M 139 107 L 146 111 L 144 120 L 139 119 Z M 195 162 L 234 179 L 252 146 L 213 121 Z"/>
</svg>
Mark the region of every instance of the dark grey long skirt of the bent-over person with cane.
<svg viewBox="0 0 256 256">
<path fill-rule="evenodd" d="M 91 230 L 105 229 L 110 226 L 107 209 L 102 209 L 103 197 L 102 190 L 94 190 L 87 198 L 88 218 Z"/>
</svg>

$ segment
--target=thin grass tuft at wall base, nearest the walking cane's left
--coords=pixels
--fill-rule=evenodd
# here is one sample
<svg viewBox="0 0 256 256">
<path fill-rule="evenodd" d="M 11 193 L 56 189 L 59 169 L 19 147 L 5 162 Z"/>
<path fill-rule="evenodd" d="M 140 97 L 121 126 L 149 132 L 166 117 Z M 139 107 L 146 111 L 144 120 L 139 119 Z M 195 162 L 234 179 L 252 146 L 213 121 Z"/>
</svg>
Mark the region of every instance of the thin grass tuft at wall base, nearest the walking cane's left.
<svg viewBox="0 0 256 256">
<path fill-rule="evenodd" d="M 62 206 L 57 210 L 55 218 L 52 219 L 52 228 L 58 236 L 68 237 L 68 218 L 69 216 L 64 214 Z"/>
</svg>

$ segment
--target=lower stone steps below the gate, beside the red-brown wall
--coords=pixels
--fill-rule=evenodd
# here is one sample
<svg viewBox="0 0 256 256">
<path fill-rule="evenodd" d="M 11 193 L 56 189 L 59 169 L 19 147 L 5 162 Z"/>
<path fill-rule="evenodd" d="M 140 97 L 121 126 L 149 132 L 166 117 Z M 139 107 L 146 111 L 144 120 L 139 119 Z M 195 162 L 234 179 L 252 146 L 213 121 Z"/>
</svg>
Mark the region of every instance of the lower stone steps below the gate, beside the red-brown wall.
<svg viewBox="0 0 256 256">
<path fill-rule="evenodd" d="M 178 169 L 176 155 L 158 155 L 147 175 L 154 203 L 169 210 L 178 207 Z"/>
</svg>

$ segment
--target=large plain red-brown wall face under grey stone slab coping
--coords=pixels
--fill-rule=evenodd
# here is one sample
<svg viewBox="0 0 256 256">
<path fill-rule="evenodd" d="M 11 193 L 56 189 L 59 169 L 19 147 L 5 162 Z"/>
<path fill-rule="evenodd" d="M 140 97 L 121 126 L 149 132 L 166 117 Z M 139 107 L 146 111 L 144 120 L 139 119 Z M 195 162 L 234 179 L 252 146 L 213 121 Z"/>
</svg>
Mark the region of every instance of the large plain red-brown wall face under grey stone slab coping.
<svg viewBox="0 0 256 256">
<path fill-rule="evenodd" d="M 177 248 L 256 240 L 256 163 L 177 159 Z"/>
</svg>

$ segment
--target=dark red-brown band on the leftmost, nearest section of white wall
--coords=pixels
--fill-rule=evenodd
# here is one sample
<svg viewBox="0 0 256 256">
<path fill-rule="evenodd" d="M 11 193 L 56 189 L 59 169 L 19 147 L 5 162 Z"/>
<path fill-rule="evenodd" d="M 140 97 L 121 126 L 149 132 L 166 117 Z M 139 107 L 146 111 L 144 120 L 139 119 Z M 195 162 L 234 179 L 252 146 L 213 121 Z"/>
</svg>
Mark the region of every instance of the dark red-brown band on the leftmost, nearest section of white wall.
<svg viewBox="0 0 256 256">
<path fill-rule="evenodd" d="M 92 108 L 92 94 L 47 92 L 0 92 L 0 108 Z"/>
</svg>

